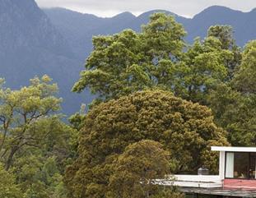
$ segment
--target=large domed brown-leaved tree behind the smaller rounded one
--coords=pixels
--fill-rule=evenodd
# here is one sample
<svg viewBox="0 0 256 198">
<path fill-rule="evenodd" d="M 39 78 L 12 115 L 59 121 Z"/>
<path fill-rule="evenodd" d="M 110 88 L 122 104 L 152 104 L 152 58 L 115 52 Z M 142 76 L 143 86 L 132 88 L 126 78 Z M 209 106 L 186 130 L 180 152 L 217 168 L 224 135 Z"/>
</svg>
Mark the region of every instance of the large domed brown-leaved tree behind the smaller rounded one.
<svg viewBox="0 0 256 198">
<path fill-rule="evenodd" d="M 70 197 L 105 197 L 113 164 L 140 140 L 161 142 L 170 152 L 172 173 L 196 171 L 210 145 L 228 145 L 209 108 L 166 91 L 141 91 L 102 103 L 89 111 L 80 131 L 78 158 L 65 173 Z M 216 168 L 217 157 L 211 167 Z M 209 165 L 209 164 L 207 164 Z M 212 169 L 214 170 L 214 169 Z"/>
</svg>

